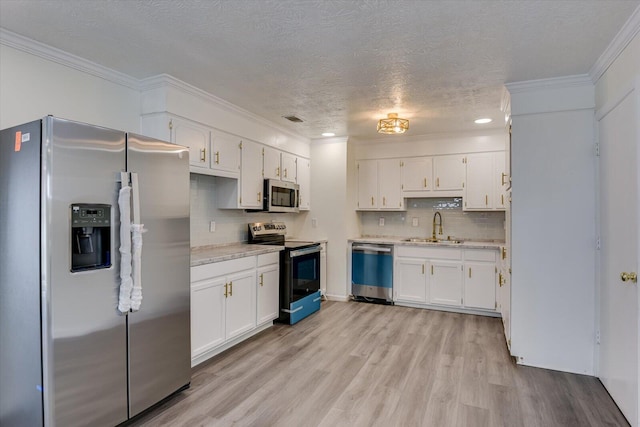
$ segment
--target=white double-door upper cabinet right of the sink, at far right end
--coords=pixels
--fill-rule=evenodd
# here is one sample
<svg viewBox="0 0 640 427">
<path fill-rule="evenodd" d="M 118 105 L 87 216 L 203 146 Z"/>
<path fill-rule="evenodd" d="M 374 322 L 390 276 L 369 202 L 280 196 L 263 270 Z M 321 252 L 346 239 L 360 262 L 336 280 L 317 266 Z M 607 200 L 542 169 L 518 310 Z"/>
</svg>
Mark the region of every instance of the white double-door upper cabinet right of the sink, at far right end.
<svg viewBox="0 0 640 427">
<path fill-rule="evenodd" d="M 504 210 L 506 200 L 504 151 L 468 154 L 464 210 Z"/>
</svg>

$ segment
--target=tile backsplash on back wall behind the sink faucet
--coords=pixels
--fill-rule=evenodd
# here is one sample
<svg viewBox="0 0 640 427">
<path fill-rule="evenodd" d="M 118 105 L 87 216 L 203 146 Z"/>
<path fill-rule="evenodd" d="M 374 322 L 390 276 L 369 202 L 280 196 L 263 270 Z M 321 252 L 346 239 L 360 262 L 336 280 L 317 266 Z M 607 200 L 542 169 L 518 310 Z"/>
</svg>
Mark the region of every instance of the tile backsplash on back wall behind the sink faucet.
<svg viewBox="0 0 640 427">
<path fill-rule="evenodd" d="M 430 237 L 433 215 L 442 215 L 442 238 L 504 240 L 504 212 L 463 212 L 461 198 L 406 199 L 404 212 L 359 213 L 363 236 Z M 380 226 L 384 218 L 384 226 Z M 418 226 L 413 226 L 417 218 Z M 437 231 L 437 230 L 436 230 Z"/>
</svg>

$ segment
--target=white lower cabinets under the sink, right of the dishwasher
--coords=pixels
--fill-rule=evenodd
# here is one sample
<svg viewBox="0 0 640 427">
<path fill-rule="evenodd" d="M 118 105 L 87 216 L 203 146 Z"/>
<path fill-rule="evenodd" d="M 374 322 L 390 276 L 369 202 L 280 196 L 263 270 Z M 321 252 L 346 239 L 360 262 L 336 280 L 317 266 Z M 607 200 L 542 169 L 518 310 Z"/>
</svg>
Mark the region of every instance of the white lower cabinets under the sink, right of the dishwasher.
<svg viewBox="0 0 640 427">
<path fill-rule="evenodd" d="M 395 248 L 394 302 L 495 315 L 496 249 Z"/>
</svg>

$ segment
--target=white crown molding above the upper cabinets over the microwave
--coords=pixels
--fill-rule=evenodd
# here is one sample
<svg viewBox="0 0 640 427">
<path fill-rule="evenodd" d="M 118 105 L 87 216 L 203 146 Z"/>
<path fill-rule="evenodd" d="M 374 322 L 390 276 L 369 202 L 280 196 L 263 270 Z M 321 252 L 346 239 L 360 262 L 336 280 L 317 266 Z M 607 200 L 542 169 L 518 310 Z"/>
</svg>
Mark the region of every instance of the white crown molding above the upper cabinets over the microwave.
<svg viewBox="0 0 640 427">
<path fill-rule="evenodd" d="M 201 100 L 215 104 L 227 111 L 231 111 L 236 114 L 240 114 L 250 120 L 259 122 L 265 126 L 268 126 L 272 129 L 278 130 L 279 132 L 285 133 L 289 136 L 292 136 L 297 139 L 303 139 L 305 141 L 310 141 L 309 138 L 302 136 L 300 134 L 295 133 L 294 131 L 287 129 L 283 126 L 278 125 L 272 121 L 265 119 L 264 117 L 258 116 L 244 108 L 238 107 L 235 104 L 230 103 L 222 98 L 219 98 L 209 92 L 206 92 L 200 88 L 197 88 L 189 83 L 186 83 L 180 79 L 177 79 L 169 74 L 159 74 L 157 76 L 151 76 L 146 79 L 142 79 L 139 81 L 138 88 L 140 92 L 145 92 L 153 89 L 161 89 L 164 87 L 172 87 L 176 90 L 179 90 L 188 95 L 200 98 Z"/>
</svg>

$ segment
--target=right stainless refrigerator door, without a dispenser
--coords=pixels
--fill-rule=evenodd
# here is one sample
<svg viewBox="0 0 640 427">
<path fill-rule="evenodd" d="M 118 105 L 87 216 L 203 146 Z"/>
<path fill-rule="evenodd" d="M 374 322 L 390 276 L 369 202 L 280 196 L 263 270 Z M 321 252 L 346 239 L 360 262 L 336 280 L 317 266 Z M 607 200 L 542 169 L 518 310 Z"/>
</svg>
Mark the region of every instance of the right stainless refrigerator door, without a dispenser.
<svg viewBox="0 0 640 427">
<path fill-rule="evenodd" d="M 189 151 L 128 134 L 127 167 L 147 230 L 142 304 L 128 316 L 133 417 L 191 381 Z"/>
</svg>

